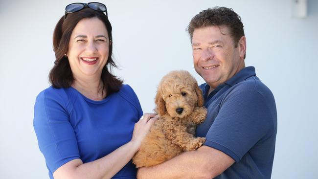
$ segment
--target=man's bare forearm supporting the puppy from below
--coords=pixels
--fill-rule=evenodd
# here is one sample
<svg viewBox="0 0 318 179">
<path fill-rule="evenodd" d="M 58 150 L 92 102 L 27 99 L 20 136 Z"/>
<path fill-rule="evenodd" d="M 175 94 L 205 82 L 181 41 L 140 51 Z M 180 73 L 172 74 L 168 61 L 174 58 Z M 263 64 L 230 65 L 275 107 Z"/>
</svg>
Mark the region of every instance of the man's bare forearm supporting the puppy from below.
<svg viewBox="0 0 318 179">
<path fill-rule="evenodd" d="M 202 146 L 153 167 L 138 170 L 138 179 L 212 179 L 223 173 L 234 159 L 212 147 Z"/>
</svg>

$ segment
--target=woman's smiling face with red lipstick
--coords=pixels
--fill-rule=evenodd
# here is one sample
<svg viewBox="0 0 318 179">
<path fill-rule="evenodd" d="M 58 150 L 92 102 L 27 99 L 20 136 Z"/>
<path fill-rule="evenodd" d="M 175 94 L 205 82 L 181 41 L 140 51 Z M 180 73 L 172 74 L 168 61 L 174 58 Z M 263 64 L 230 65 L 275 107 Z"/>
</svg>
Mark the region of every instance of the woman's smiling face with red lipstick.
<svg viewBox="0 0 318 179">
<path fill-rule="evenodd" d="M 105 24 L 98 18 L 78 22 L 70 36 L 68 61 L 75 79 L 100 77 L 109 53 Z"/>
</svg>

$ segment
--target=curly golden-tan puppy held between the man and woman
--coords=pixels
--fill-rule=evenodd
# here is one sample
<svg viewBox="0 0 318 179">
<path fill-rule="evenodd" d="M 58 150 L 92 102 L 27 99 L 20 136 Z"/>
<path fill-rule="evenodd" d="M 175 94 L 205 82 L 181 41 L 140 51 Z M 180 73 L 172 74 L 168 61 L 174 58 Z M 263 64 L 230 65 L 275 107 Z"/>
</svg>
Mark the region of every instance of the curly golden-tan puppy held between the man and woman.
<svg viewBox="0 0 318 179">
<path fill-rule="evenodd" d="M 180 70 L 165 75 L 159 83 L 155 103 L 159 119 L 133 157 L 137 168 L 196 150 L 205 141 L 204 137 L 194 137 L 196 126 L 204 121 L 207 110 L 203 107 L 202 91 L 189 72 Z"/>
</svg>

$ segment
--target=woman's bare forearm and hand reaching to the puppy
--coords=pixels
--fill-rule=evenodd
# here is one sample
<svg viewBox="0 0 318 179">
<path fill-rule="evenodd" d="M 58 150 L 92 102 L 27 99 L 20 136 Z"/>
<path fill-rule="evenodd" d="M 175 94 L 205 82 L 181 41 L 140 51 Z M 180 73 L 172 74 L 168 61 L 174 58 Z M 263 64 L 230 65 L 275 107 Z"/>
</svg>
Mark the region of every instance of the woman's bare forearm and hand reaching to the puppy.
<svg viewBox="0 0 318 179">
<path fill-rule="evenodd" d="M 110 179 L 124 167 L 139 150 L 141 141 L 148 134 L 150 127 L 158 118 L 147 113 L 135 124 L 130 142 L 122 145 L 109 155 L 83 164 L 81 159 L 74 159 L 58 168 L 55 179 Z"/>
</svg>

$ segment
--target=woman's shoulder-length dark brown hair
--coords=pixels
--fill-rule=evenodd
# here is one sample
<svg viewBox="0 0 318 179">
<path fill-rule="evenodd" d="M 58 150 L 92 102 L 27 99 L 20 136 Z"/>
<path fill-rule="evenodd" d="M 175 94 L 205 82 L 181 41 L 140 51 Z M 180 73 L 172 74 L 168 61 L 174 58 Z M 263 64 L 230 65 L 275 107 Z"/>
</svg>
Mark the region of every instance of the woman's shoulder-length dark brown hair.
<svg viewBox="0 0 318 179">
<path fill-rule="evenodd" d="M 103 67 L 101 80 L 103 82 L 103 90 L 107 95 L 119 90 L 122 81 L 114 76 L 112 67 L 117 67 L 113 58 L 113 41 L 112 41 L 112 25 L 108 17 L 103 12 L 95 11 L 91 8 L 84 8 L 75 13 L 64 16 L 57 22 L 53 33 L 53 50 L 55 52 L 54 67 L 49 73 L 49 81 L 54 88 L 68 88 L 74 81 L 71 68 L 69 66 L 68 57 L 64 56 L 68 52 L 68 43 L 70 36 L 76 24 L 84 18 L 98 18 L 104 22 L 109 36 L 109 55 L 105 67 Z M 108 67 L 109 66 L 109 69 Z"/>
</svg>

